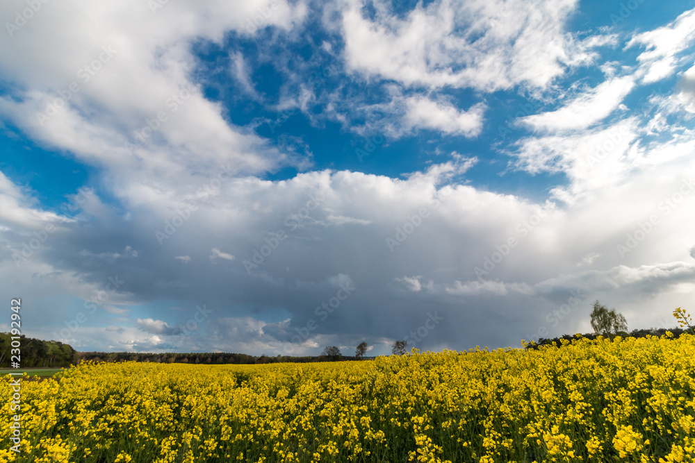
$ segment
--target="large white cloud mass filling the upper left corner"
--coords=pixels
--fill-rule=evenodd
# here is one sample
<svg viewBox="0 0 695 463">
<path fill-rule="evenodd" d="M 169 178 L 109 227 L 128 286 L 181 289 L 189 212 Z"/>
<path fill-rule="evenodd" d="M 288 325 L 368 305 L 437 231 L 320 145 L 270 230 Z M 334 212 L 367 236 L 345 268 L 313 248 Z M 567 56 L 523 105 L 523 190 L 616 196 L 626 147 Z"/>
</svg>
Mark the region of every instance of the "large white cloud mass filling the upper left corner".
<svg viewBox="0 0 695 463">
<path fill-rule="evenodd" d="M 11 17 L 22 8 L 26 3 L 7 1 L 0 12 Z M 0 115 L 45 146 L 107 169 L 113 193 L 131 205 L 179 205 L 177 197 L 220 165 L 248 173 L 292 164 L 261 137 L 230 126 L 222 106 L 190 80 L 193 40 L 247 33 L 247 20 L 265 9 L 263 26 L 284 30 L 306 15 L 301 1 L 167 3 L 154 16 L 137 1 L 47 3 L 31 18 L 40 33 L 26 26 L 0 49 L 3 79 L 15 92 L 0 97 Z M 55 114 L 38 120 L 47 112 Z M 154 131 L 136 144 L 148 121 Z"/>
</svg>

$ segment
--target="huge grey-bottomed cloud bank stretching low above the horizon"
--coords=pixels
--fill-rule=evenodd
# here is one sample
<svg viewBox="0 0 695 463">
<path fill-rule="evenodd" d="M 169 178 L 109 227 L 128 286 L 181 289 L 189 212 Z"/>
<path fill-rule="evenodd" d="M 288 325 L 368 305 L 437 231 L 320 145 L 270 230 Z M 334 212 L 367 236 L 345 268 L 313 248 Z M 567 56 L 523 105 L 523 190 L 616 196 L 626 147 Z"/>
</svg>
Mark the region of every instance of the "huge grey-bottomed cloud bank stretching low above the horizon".
<svg viewBox="0 0 695 463">
<path fill-rule="evenodd" d="M 602 162 L 605 161 L 610 159 Z M 124 314 L 109 310 L 106 304 L 131 305 L 134 326 L 108 322 L 111 326 L 122 325 L 123 332 L 106 331 L 108 325 L 92 332 L 85 326 L 79 328 L 81 342 L 108 344 L 117 350 L 162 348 L 152 335 L 164 343 L 172 341 L 167 336 L 174 334 L 174 328 L 163 321 L 173 313 L 168 310 L 171 305 L 161 311 L 142 310 L 140 306 L 143 301 L 171 298 L 181 292 L 188 299 L 207 301 L 213 312 L 211 323 L 199 324 L 195 335 L 177 340 L 179 351 L 223 348 L 274 355 L 289 346 L 294 353 L 315 353 L 316 348 L 311 347 L 314 344 L 355 345 L 365 336 L 370 344 L 377 345 L 379 337 L 401 339 L 420 326 L 423 307 L 439 310 L 448 320 L 429 337 L 431 342 L 454 345 L 464 333 L 473 345 L 505 345 L 522 337 L 528 339 L 525 331 L 535 331 L 539 323 L 545 323 L 545 314 L 565 303 L 571 289 L 580 289 L 587 300 L 603 301 L 612 294 L 614 302 L 605 302 L 619 310 L 621 305 L 629 306 L 632 312 L 626 316 L 631 326 L 649 326 L 658 319 L 653 305 L 668 307 L 678 303 L 677 297 L 682 298 L 683 293 L 674 294 L 668 288 L 681 285 L 679 288 L 685 290 L 687 287 L 682 284 L 692 280 L 693 264 L 672 262 L 686 258 L 693 262 L 689 254 L 695 225 L 689 211 L 695 207 L 695 194 L 684 196 L 668 214 L 659 209 L 660 201 L 679 191 L 681 176 L 695 171 L 695 162 L 687 156 L 644 167 L 644 172 L 633 171 L 616 183 L 582 184 L 584 196 L 562 207 L 546 208 L 547 217 L 540 222 L 530 219 L 542 206 L 539 203 L 470 185 L 443 186 L 459 168 L 455 162 L 443 163 L 406 178 L 320 171 L 281 181 L 252 177 L 230 180 L 224 195 L 211 199 L 214 209 L 197 211 L 196 221 L 181 226 L 172 241 L 163 246 L 152 237 L 152 230 L 161 226 L 157 219 L 149 217 L 147 211 L 134 210 L 136 217 L 129 222 L 133 235 L 127 239 L 133 249 L 142 250 L 138 256 L 142 271 L 137 280 L 124 278 L 128 281 L 121 291 L 110 296 L 115 301 L 106 301 L 104 305 L 106 311 L 119 316 Z M 594 166 L 597 168 L 600 167 Z M 579 180 L 571 180 L 575 181 Z M 311 212 L 316 222 L 291 230 L 282 217 L 304 207 L 311 194 L 322 198 L 320 207 Z M 396 228 L 422 208 L 427 208 L 427 217 L 391 253 L 386 238 L 394 237 Z M 621 257 L 616 245 L 649 220 L 650 211 L 660 214 L 660 224 L 633 251 Z M 368 224 L 354 226 L 346 222 L 327 227 L 324 224 L 329 214 L 360 217 Z M 104 245 L 113 237 L 112 220 L 92 224 L 97 228 L 94 236 L 106 238 Z M 267 230 L 278 228 L 288 237 L 248 276 L 243 260 L 252 258 L 254 247 L 265 244 Z M 96 269 L 81 267 L 80 261 L 67 265 L 74 259 L 76 244 L 71 244 L 72 240 L 81 244 L 83 238 L 90 238 L 85 235 L 89 230 L 76 226 L 71 230 L 70 239 L 67 235 L 55 237 L 54 247 L 63 254 L 34 256 L 20 269 L 11 261 L 0 262 L 0 281 L 9 282 L 4 283 L 9 288 L 7 285 L 12 285 L 14 278 L 40 278 L 40 291 L 77 294 L 88 301 L 104 289 L 108 276 L 119 274 L 123 278 L 123 271 L 132 265 L 132 260 L 117 259 L 112 266 Z M 210 238 L 199 239 L 204 233 Z M 518 245 L 496 264 L 486 280 L 474 280 L 475 267 L 482 266 L 485 258 L 507 243 L 509 237 L 516 238 Z M 6 235 L 3 238 L 9 239 Z M 201 272 L 190 266 L 166 263 L 175 256 L 184 257 L 181 249 L 186 249 L 191 261 L 200 262 L 211 254 L 211 246 L 236 255 L 229 265 L 234 278 L 229 278 L 227 272 Z M 93 246 L 92 252 L 106 251 Z M 577 262 L 586 260 L 587 255 L 590 260 L 589 253 L 600 254 L 601 258 L 593 260 L 589 271 L 586 267 L 578 268 Z M 53 267 L 51 262 L 62 262 L 62 267 Z M 86 276 L 96 283 L 81 282 Z M 356 289 L 325 319 L 317 317 L 316 308 L 334 297 L 341 283 Z M 641 296 L 635 299 L 637 289 Z M 229 298 L 229 294 L 242 290 L 258 301 L 257 315 L 248 320 L 238 317 L 240 301 Z M 384 294 L 389 291 L 393 293 Z M 475 307 L 467 305 L 471 298 L 475 298 Z M 193 304 L 176 306 L 184 308 L 182 319 L 193 319 Z M 505 307 L 514 310 L 505 312 L 501 309 Z M 281 308 L 282 319 L 289 321 L 263 321 L 264 311 L 269 308 Z M 585 315 L 577 310 L 576 315 L 554 328 L 553 334 L 581 331 Z M 65 315 L 59 317 L 54 326 L 62 326 Z M 96 315 L 90 317 L 89 323 L 98 319 Z M 365 330 L 362 321 L 370 317 L 393 322 L 373 323 L 375 328 Z M 235 320 L 220 324 L 220 318 Z M 270 318 L 279 319 L 276 314 L 268 315 Z M 309 319 L 320 321 L 318 328 L 304 342 L 288 344 L 288 339 L 296 335 L 295 328 L 301 329 Z M 489 326 L 499 326 L 500 320 L 507 328 L 493 335 Z M 451 327 L 457 328 L 449 331 Z M 588 325 L 586 330 L 590 330 Z M 230 333 L 236 333 L 239 340 Z M 53 337 L 51 330 L 48 335 Z M 360 339 L 353 339 L 357 337 Z M 129 339 L 134 342 L 127 344 Z"/>
</svg>

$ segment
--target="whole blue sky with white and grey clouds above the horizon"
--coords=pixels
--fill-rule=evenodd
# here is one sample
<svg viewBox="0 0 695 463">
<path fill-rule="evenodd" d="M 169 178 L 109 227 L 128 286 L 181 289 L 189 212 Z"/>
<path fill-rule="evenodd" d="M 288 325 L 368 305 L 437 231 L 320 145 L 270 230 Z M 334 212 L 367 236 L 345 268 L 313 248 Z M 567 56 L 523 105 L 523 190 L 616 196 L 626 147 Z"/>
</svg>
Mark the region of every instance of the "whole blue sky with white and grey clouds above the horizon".
<svg viewBox="0 0 695 463">
<path fill-rule="evenodd" d="M 695 304 L 689 1 L 0 4 L 0 294 L 78 351 L 386 355 Z"/>
</svg>

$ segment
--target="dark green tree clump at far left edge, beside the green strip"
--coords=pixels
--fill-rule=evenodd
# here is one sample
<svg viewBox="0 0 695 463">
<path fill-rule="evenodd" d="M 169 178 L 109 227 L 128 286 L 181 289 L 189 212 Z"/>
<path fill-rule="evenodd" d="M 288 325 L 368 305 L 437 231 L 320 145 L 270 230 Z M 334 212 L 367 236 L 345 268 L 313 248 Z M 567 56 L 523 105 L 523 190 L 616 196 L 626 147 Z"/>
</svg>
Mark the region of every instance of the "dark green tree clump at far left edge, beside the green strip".
<svg viewBox="0 0 695 463">
<path fill-rule="evenodd" d="M 10 367 L 12 356 L 17 351 L 12 351 L 13 335 L 8 332 L 0 332 L 0 366 Z M 14 336 L 16 337 L 16 336 Z M 16 344 L 15 339 L 15 346 Z M 22 368 L 36 367 L 70 367 L 77 362 L 77 351 L 70 344 L 60 341 L 43 341 L 33 337 L 21 335 L 19 337 L 19 365 Z"/>
</svg>

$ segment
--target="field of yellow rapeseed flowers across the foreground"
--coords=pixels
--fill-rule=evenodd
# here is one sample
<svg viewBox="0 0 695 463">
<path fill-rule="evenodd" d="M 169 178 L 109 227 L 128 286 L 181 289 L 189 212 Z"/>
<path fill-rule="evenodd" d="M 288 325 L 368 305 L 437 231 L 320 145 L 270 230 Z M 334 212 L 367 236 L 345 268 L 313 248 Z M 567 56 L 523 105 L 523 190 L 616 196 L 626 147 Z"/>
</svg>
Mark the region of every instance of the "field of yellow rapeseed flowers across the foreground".
<svg viewBox="0 0 695 463">
<path fill-rule="evenodd" d="M 3 424 L 0 461 L 695 458 L 692 335 L 363 362 L 81 364 L 58 376 L 22 382 L 22 453 Z M 3 423 L 15 414 L 8 382 Z"/>
</svg>

